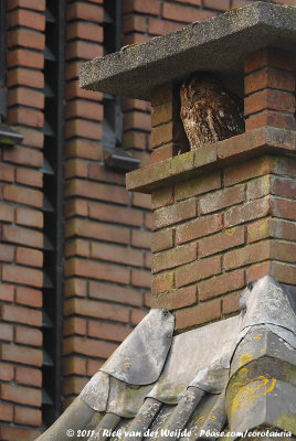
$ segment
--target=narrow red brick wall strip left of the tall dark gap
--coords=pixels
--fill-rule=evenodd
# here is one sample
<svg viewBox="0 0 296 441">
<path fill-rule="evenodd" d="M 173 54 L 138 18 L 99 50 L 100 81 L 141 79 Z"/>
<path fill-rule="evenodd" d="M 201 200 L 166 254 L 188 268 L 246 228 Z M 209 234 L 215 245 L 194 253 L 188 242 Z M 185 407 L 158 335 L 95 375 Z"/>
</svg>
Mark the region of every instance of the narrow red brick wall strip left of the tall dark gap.
<svg viewBox="0 0 296 441">
<path fill-rule="evenodd" d="M 1 440 L 36 435 L 42 419 L 44 8 L 8 1 L 8 120 L 24 140 L 0 148 Z"/>
</svg>

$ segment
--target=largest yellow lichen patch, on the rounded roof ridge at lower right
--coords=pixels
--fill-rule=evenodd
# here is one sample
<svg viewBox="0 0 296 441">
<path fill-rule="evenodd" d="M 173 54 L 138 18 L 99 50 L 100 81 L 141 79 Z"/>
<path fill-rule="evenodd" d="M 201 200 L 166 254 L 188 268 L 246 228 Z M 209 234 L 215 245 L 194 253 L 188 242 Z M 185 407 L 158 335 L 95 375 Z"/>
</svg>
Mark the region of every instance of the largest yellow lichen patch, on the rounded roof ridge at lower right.
<svg viewBox="0 0 296 441">
<path fill-rule="evenodd" d="M 242 387 L 232 401 L 231 413 L 272 391 L 275 383 L 276 378 L 267 378 L 262 375 Z"/>
</svg>

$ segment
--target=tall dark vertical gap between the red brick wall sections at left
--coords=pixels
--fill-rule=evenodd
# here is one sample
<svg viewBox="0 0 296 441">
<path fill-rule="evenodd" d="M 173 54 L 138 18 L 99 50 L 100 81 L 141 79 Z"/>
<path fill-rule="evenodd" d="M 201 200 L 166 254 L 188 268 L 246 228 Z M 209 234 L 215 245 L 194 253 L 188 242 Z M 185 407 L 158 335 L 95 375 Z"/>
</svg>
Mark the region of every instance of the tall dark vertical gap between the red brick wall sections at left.
<svg viewBox="0 0 296 441">
<path fill-rule="evenodd" d="M 62 411 L 64 17 L 63 1 L 47 2 L 42 170 L 44 176 L 42 417 L 45 427 L 51 426 Z"/>
</svg>

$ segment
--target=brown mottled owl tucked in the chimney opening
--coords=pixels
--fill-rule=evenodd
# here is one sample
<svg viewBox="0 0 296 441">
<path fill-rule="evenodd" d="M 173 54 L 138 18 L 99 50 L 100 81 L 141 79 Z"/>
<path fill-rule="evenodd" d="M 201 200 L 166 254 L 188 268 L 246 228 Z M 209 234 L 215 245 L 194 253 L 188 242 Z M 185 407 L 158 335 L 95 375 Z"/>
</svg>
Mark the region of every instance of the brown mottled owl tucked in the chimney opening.
<svg viewBox="0 0 296 441">
<path fill-rule="evenodd" d="M 191 75 L 181 86 L 180 96 L 180 116 L 191 150 L 244 131 L 241 98 L 212 75 Z"/>
</svg>

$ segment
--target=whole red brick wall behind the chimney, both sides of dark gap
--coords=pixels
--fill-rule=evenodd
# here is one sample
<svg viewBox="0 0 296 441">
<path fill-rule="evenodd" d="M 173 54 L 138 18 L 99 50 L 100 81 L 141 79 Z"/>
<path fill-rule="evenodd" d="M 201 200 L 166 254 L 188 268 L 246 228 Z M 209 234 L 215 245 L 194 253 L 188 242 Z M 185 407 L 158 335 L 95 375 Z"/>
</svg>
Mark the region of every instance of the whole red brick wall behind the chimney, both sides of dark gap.
<svg viewBox="0 0 296 441">
<path fill-rule="evenodd" d="M 246 3 L 123 0 L 123 44 L 142 42 Z M 2 441 L 34 439 L 41 423 L 44 10 L 45 0 L 8 0 L 9 123 L 19 127 L 24 140 L 0 148 Z M 105 168 L 99 143 L 102 95 L 84 92 L 77 83 L 81 62 L 103 54 L 102 20 L 102 0 L 67 1 L 65 402 L 80 392 L 150 303 L 150 201 L 127 194 L 124 174 Z M 148 164 L 149 104 L 124 99 L 123 108 L 124 147 L 140 158 L 141 165 Z M 171 240 L 170 236 L 165 240 Z"/>
</svg>

